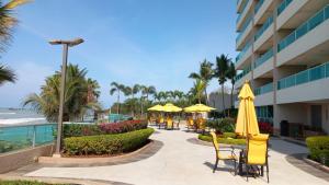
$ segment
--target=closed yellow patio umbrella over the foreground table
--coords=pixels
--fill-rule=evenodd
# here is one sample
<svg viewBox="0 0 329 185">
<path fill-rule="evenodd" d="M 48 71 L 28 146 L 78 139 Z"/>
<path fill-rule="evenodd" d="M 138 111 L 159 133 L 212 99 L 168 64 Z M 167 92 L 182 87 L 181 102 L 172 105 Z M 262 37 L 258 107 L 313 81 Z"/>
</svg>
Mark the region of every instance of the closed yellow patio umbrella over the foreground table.
<svg viewBox="0 0 329 185">
<path fill-rule="evenodd" d="M 246 81 L 239 93 L 239 112 L 236 125 L 236 134 L 248 137 L 249 135 L 259 135 L 258 122 L 253 105 L 254 95 Z"/>
</svg>

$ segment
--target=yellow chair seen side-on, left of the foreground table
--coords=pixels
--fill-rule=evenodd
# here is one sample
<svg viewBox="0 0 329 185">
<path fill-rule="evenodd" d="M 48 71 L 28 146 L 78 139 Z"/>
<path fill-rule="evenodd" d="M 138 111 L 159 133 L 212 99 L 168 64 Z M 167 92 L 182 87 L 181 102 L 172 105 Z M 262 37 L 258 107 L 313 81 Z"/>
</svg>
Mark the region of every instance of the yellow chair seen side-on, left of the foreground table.
<svg viewBox="0 0 329 185">
<path fill-rule="evenodd" d="M 214 131 L 211 131 L 211 135 L 212 135 L 212 138 L 213 138 L 213 144 L 214 144 L 214 148 L 215 148 L 215 151 L 216 151 L 216 162 L 215 162 L 215 165 L 214 165 L 213 173 L 215 173 L 215 171 L 217 169 L 218 161 L 223 160 L 223 161 L 234 161 L 234 163 L 235 163 L 235 169 L 234 170 L 235 170 L 235 175 L 236 175 L 237 174 L 237 160 L 238 160 L 238 158 L 234 153 L 234 149 L 231 149 L 231 150 L 219 149 L 219 144 L 218 144 L 218 141 L 217 141 L 216 134 Z M 230 151 L 230 155 L 223 155 L 220 153 L 220 151 Z"/>
</svg>

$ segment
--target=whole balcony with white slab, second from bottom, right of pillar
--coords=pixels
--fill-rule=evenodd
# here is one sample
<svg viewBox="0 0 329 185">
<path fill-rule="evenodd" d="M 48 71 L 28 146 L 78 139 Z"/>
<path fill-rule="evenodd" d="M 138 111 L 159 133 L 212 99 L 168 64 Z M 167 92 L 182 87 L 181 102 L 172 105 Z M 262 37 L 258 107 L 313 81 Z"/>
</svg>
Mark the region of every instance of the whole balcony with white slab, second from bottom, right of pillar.
<svg viewBox="0 0 329 185">
<path fill-rule="evenodd" d="M 327 50 L 329 45 L 328 19 L 329 5 L 326 5 L 322 10 L 283 38 L 277 44 L 277 67 L 290 60 L 296 60 L 296 57 L 300 57 L 302 55 L 304 58 L 298 58 L 298 60 L 306 60 L 308 53 L 313 53 L 309 55 L 310 57 L 316 57 L 318 54 L 315 55 L 311 50 Z"/>
</svg>

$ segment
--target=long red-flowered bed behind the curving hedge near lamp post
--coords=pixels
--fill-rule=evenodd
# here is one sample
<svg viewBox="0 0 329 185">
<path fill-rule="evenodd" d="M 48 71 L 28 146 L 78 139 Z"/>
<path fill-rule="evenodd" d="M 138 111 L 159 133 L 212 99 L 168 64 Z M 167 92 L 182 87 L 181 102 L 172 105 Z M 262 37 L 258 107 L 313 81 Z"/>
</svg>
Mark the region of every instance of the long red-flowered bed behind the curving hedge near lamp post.
<svg viewBox="0 0 329 185">
<path fill-rule="evenodd" d="M 69 124 L 64 125 L 64 137 L 95 136 L 123 134 L 147 128 L 146 120 L 124 120 L 100 125 Z"/>
</svg>

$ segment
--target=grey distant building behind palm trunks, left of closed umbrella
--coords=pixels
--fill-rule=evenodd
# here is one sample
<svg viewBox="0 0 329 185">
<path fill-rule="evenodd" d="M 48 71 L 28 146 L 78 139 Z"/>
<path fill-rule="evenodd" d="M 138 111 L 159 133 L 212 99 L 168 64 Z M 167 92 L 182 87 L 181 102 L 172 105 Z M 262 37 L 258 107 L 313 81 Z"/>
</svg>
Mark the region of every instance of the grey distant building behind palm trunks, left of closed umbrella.
<svg viewBox="0 0 329 185">
<path fill-rule="evenodd" d="M 236 101 L 237 95 L 234 94 L 234 102 Z M 222 97 L 222 92 L 217 91 L 217 92 L 212 92 L 208 95 L 208 102 L 209 102 L 209 106 L 216 108 L 218 112 L 224 111 L 224 106 L 223 106 L 223 97 Z M 230 101 L 230 94 L 228 93 L 224 93 L 224 102 L 225 102 L 225 108 L 230 108 L 231 106 L 234 106 L 234 104 L 231 105 L 231 101 Z"/>
</svg>

